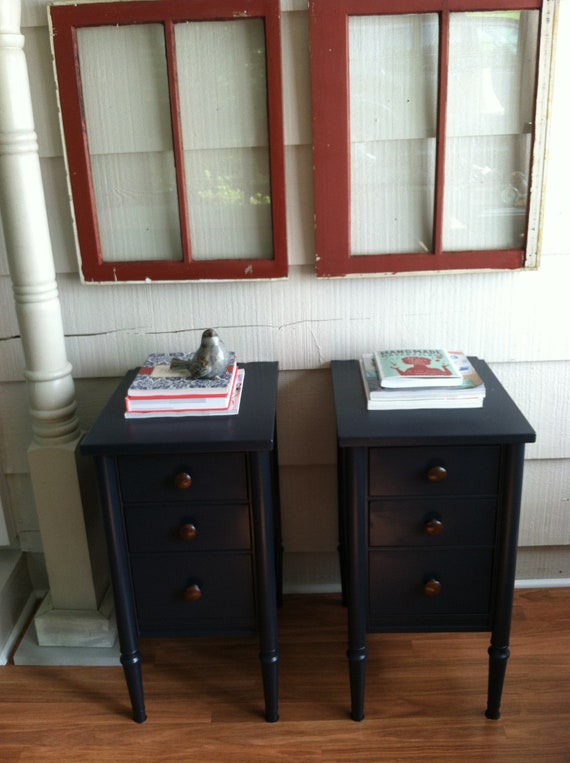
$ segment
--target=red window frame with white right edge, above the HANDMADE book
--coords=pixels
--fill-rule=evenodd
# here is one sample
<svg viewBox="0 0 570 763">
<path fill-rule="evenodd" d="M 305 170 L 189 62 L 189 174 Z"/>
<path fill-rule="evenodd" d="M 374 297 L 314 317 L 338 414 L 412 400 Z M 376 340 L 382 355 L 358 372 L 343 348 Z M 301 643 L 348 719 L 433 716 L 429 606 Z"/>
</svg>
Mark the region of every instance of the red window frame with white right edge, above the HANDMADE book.
<svg viewBox="0 0 570 763">
<path fill-rule="evenodd" d="M 538 266 L 544 147 L 555 0 L 309 0 L 316 271 L 320 277 L 521 269 Z M 442 246 L 449 18 L 457 12 L 537 10 L 539 34 L 526 238 L 520 247 L 445 251 Z M 351 251 L 349 22 L 353 16 L 435 14 L 438 19 L 433 229 L 425 251 Z M 381 213 L 375 221 L 383 224 Z M 423 243 L 423 242 L 422 242 Z"/>
</svg>

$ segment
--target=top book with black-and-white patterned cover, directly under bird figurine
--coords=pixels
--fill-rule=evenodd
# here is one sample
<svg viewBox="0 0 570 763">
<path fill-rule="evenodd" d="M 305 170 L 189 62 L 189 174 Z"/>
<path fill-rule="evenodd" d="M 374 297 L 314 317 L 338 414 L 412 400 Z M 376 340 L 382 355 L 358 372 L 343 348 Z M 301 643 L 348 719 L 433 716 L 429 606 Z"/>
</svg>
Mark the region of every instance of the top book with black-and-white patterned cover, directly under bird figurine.
<svg viewBox="0 0 570 763">
<path fill-rule="evenodd" d="M 215 379 L 191 379 L 184 368 L 170 368 L 173 358 L 190 360 L 194 353 L 172 352 L 149 355 L 128 389 L 128 398 L 222 397 L 231 395 L 237 371 L 235 352 L 229 353 L 226 371 Z"/>
</svg>

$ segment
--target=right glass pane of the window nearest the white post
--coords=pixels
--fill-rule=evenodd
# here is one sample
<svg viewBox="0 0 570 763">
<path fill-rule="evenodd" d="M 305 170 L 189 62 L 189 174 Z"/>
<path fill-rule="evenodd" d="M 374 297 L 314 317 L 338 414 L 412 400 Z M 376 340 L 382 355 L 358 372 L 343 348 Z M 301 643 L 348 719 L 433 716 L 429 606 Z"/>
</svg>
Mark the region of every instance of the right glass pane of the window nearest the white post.
<svg viewBox="0 0 570 763">
<path fill-rule="evenodd" d="M 271 259 L 263 21 L 176 24 L 175 39 L 192 258 Z"/>
</svg>

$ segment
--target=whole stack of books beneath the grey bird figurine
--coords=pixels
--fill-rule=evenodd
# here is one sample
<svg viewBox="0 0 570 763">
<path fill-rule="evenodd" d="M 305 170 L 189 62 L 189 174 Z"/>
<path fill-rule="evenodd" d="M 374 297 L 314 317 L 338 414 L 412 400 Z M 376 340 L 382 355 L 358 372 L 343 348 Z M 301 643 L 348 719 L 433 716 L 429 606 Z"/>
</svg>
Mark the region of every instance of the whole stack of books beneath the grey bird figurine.
<svg viewBox="0 0 570 763">
<path fill-rule="evenodd" d="M 245 369 L 230 353 L 225 373 L 215 379 L 191 379 L 184 368 L 171 368 L 173 358 L 193 353 L 149 355 L 125 398 L 125 418 L 231 416 L 239 412 Z"/>
</svg>

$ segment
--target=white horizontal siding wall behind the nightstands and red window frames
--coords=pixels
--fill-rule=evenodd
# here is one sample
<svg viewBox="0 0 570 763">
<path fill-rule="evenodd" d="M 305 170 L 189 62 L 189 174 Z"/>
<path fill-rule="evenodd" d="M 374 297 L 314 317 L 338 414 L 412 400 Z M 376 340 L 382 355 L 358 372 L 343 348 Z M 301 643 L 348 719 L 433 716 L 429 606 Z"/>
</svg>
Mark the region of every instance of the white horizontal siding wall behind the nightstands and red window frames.
<svg viewBox="0 0 570 763">
<path fill-rule="evenodd" d="M 562 0 L 560 7 L 543 257 L 537 271 L 317 281 L 308 17 L 306 2 L 287 0 L 282 2 L 282 46 L 289 278 L 84 286 L 77 274 L 45 3 L 22 2 L 50 233 L 81 426 L 91 425 L 125 370 L 153 351 L 194 349 L 207 326 L 218 328 L 241 361 L 278 360 L 285 579 L 291 589 L 338 585 L 329 363 L 377 347 L 410 344 L 464 349 L 485 358 L 521 407 L 538 434 L 526 451 L 522 574 L 547 575 L 554 567 L 545 558 L 556 560 L 553 564 L 560 570 L 564 567 L 560 549 L 570 548 L 570 0 Z M 41 542 L 27 479 L 31 425 L 24 359 L 1 236 L 0 306 L 0 463 L 20 543 L 37 552 Z"/>
</svg>

